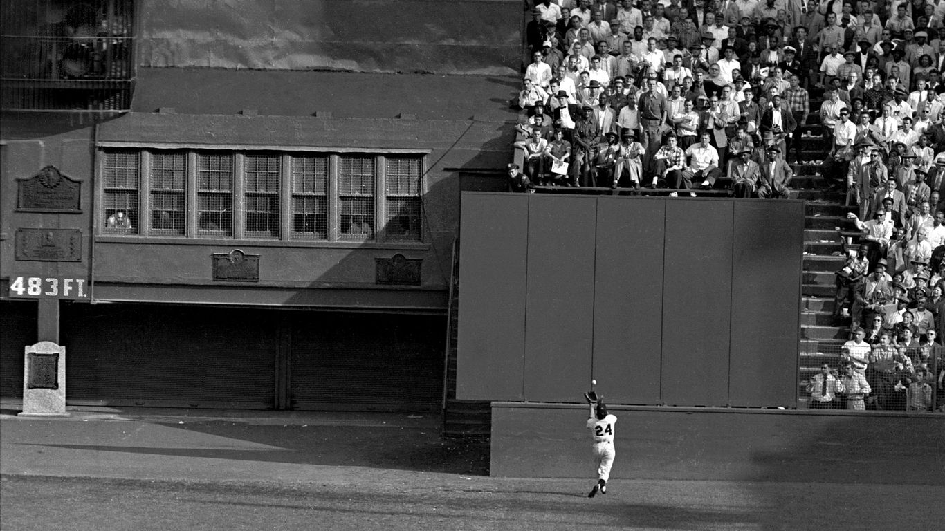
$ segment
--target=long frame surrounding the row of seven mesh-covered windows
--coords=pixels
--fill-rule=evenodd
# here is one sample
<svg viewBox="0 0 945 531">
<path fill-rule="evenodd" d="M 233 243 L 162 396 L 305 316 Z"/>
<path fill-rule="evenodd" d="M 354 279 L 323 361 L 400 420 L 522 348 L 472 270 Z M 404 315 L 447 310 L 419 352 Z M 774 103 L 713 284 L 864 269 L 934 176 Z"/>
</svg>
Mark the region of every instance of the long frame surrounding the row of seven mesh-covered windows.
<svg viewBox="0 0 945 531">
<path fill-rule="evenodd" d="M 118 150 L 134 149 L 139 153 L 139 174 L 138 174 L 138 212 L 139 226 L 135 227 L 134 233 L 115 233 L 105 229 L 104 219 L 99 220 L 104 214 L 104 205 L 102 199 L 105 193 L 104 171 L 110 153 Z M 182 152 L 185 159 L 185 227 L 182 234 L 168 234 L 167 231 L 161 231 L 151 228 L 150 215 L 153 210 L 152 205 L 152 156 L 157 152 Z M 426 231 L 424 223 L 424 212 L 422 210 L 423 197 L 426 194 L 426 159 L 429 150 L 414 149 L 313 149 L 298 147 L 272 147 L 260 146 L 247 148 L 247 146 L 221 147 L 215 146 L 185 146 L 177 144 L 168 145 L 140 145 L 131 143 L 99 143 L 96 147 L 96 179 L 95 187 L 96 205 L 94 233 L 97 239 L 104 239 L 109 242 L 120 242 L 134 240 L 147 240 L 148 242 L 160 242 L 166 240 L 166 243 L 177 243 L 185 245 L 198 245 L 208 242 L 234 243 L 245 242 L 247 245 L 278 245 L 289 247 L 370 247 L 381 248 L 429 248 L 430 238 Z M 229 235 L 220 233 L 207 233 L 201 231 L 198 225 L 198 156 L 200 154 L 212 155 L 230 155 L 232 157 L 232 233 Z M 265 156 L 276 155 L 280 157 L 280 176 L 279 191 L 273 195 L 277 197 L 279 220 L 278 235 L 260 236 L 257 232 L 247 231 L 247 200 L 248 196 L 253 195 L 248 191 L 246 158 L 247 156 Z M 378 223 L 382 224 L 381 229 L 386 228 L 387 224 L 387 156 L 396 156 L 398 158 L 416 158 L 420 167 L 419 182 L 417 184 L 418 200 L 421 204 L 420 209 L 420 231 L 415 239 L 388 239 L 386 230 L 378 230 Z M 293 189 L 293 158 L 294 157 L 321 157 L 327 161 L 327 183 L 323 194 L 327 207 L 327 231 L 323 238 L 305 238 L 300 237 L 300 232 L 293 231 L 293 199 L 296 197 L 319 197 L 317 193 L 306 194 L 296 193 Z M 374 165 L 374 183 L 373 183 L 373 212 L 374 230 L 370 237 L 356 238 L 351 234 L 342 234 L 341 224 L 341 197 L 339 193 L 339 168 L 340 158 L 342 156 L 368 156 L 373 159 Z M 140 213 L 147 213 L 147 219 L 140 219 Z"/>
</svg>

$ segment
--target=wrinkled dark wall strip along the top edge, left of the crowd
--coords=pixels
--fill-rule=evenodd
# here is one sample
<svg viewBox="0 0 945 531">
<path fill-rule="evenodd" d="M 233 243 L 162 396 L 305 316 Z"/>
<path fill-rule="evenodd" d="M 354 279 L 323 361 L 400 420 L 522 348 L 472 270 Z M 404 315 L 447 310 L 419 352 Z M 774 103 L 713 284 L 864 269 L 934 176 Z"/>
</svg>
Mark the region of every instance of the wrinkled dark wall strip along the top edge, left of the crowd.
<svg viewBox="0 0 945 531">
<path fill-rule="evenodd" d="M 508 75 L 521 0 L 145 0 L 139 65 Z"/>
</svg>

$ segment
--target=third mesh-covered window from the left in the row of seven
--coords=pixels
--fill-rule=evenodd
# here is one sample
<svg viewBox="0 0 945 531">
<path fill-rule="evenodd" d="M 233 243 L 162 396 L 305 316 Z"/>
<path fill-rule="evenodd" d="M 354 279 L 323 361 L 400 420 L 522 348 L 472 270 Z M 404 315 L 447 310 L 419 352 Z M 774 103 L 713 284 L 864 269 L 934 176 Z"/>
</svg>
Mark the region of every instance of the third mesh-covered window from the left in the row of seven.
<svg viewBox="0 0 945 531">
<path fill-rule="evenodd" d="M 232 155 L 198 154 L 198 235 L 232 236 L 232 182 Z"/>
</svg>

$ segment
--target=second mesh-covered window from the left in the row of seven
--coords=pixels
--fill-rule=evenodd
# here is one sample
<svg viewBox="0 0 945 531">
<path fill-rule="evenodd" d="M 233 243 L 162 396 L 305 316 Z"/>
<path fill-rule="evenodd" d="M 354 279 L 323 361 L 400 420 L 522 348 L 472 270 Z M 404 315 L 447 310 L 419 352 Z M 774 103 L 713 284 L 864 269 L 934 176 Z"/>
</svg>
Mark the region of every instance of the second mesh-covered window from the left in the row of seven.
<svg viewBox="0 0 945 531">
<path fill-rule="evenodd" d="M 151 155 L 151 233 L 182 236 L 186 232 L 187 155 L 180 151 Z"/>
</svg>

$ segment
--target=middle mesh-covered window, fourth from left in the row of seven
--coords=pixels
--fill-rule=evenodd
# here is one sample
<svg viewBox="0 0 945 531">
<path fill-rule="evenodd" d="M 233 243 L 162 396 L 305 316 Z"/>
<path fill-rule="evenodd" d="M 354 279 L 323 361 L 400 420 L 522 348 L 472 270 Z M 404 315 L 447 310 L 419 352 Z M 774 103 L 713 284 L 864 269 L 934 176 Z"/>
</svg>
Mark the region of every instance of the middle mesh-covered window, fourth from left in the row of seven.
<svg viewBox="0 0 945 531">
<path fill-rule="evenodd" d="M 248 155 L 244 163 L 246 235 L 249 238 L 279 237 L 279 155 Z"/>
</svg>

